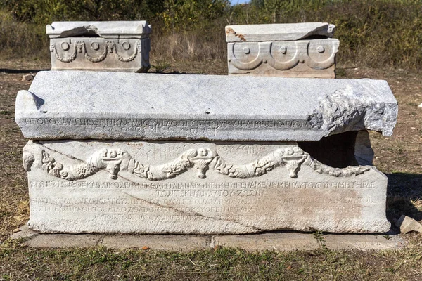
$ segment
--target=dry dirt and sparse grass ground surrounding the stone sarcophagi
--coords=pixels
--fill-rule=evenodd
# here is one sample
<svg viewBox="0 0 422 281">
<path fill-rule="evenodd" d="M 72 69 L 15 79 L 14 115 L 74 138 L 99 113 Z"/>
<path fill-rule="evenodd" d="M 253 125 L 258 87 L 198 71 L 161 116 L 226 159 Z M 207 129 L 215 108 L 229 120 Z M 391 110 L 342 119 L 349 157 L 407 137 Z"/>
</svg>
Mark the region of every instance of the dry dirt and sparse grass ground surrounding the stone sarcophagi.
<svg viewBox="0 0 422 281">
<path fill-rule="evenodd" d="M 113 259 L 116 259 L 116 261 L 113 261 L 113 266 L 115 267 L 116 264 L 120 265 L 119 268 L 122 270 L 122 276 L 129 276 L 129 280 L 132 280 L 131 276 L 134 277 L 135 275 L 124 275 L 124 272 L 126 271 L 124 271 L 124 267 L 122 267 L 122 264 L 117 260 L 122 259 L 133 263 L 134 260 L 141 259 L 139 256 L 142 256 L 142 253 L 130 251 L 119 256 L 119 254 L 110 252 L 107 249 L 90 249 L 87 251 L 77 249 L 69 251 L 47 249 L 45 251 L 39 251 L 39 256 L 37 258 L 37 251 L 26 249 L 18 242 L 11 242 L 9 240 L 11 234 L 19 226 L 23 225 L 29 217 L 27 179 L 22 166 L 22 148 L 27 140 L 23 138 L 20 129 L 14 122 L 15 96 L 18 91 L 26 90 L 30 86 L 30 81 L 21 81 L 23 74 L 36 74 L 39 70 L 47 69 L 49 69 L 49 64 L 42 61 L 24 62 L 0 60 L 0 166 L 2 168 L 0 169 L 0 280 L 31 280 L 32 275 L 29 274 L 31 272 L 31 266 L 33 266 L 33 268 L 39 268 L 39 266 L 47 261 L 56 264 L 56 260 L 54 259 L 55 255 L 57 259 L 59 257 L 62 261 L 64 259 L 65 264 L 75 266 L 75 264 L 73 264 L 75 261 L 66 258 L 65 253 L 67 253 L 68 256 L 75 256 L 75 259 L 78 259 L 77 256 L 84 256 L 84 258 L 86 258 L 87 255 L 107 256 L 108 259 L 114 257 Z M 154 71 L 157 70 L 151 70 L 151 72 Z M 164 72 L 226 74 L 226 65 L 222 62 L 188 64 L 170 63 L 170 67 L 167 67 Z M 388 176 L 387 213 L 390 221 L 394 224 L 402 214 L 421 221 L 422 107 L 418 107 L 418 105 L 422 103 L 422 75 L 415 72 L 407 72 L 406 70 L 373 70 L 342 66 L 338 67 L 337 74 L 338 78 L 385 79 L 388 81 L 388 84 L 390 84 L 392 92 L 395 94 L 399 103 L 399 116 L 392 137 L 386 138 L 380 133 L 371 132 L 371 143 L 373 150 L 375 151 L 374 164 Z M 315 252 L 310 254 L 310 258 L 309 254 L 300 253 L 269 253 L 267 254 L 267 257 L 272 257 L 271 259 L 274 259 L 274 261 L 277 260 L 279 263 L 283 262 L 283 265 L 285 266 L 277 269 L 281 270 L 277 271 L 279 273 L 284 273 L 286 268 L 289 268 L 290 266 L 290 272 L 287 271 L 286 276 L 298 277 L 297 279 L 308 280 L 308 278 L 310 278 L 311 280 L 316 280 L 325 279 L 327 276 L 333 276 L 336 278 L 344 277 L 345 280 L 354 280 L 355 278 L 372 280 L 372 277 L 376 277 L 376 279 L 380 280 L 389 279 L 390 277 L 394 280 L 422 280 L 422 235 L 411 234 L 404 235 L 404 237 L 409 240 L 409 246 L 407 249 L 402 250 L 402 253 L 396 254 L 392 252 L 376 254 L 373 252 L 353 253 L 330 251 L 328 254 L 327 252 Z M 236 275 L 230 275 L 227 273 L 228 269 L 224 268 L 226 271 L 223 271 L 227 274 L 219 276 L 224 276 L 224 278 L 221 278 L 224 280 L 229 280 L 231 278 L 247 280 L 248 278 L 245 278 L 245 276 L 247 277 L 248 275 L 242 275 L 241 268 L 248 266 L 248 264 L 252 262 L 252 257 L 248 256 L 248 254 L 242 254 L 243 252 L 240 252 L 239 254 L 238 251 L 234 250 L 219 251 L 203 254 L 196 253 L 194 256 L 182 255 L 177 257 L 174 257 L 169 253 L 147 253 L 146 256 L 142 256 L 142 259 L 148 258 L 150 259 L 149 262 L 156 266 L 163 266 L 162 263 L 165 261 L 170 262 L 173 259 L 171 262 L 174 267 L 172 270 L 175 270 L 175 275 L 172 275 L 173 277 L 179 276 L 184 280 L 207 280 L 207 278 L 212 276 L 210 272 L 214 269 L 210 268 L 209 264 L 205 266 L 206 262 L 204 259 L 217 259 L 216 255 L 218 256 L 219 254 L 222 256 L 228 255 L 228 259 L 230 259 L 230 255 L 235 255 L 236 263 L 231 266 L 238 268 L 239 271 Z M 31 257 L 30 259 L 28 258 L 28 255 Z M 239 255 L 243 256 L 244 259 Z M 306 258 L 307 256 L 309 259 Z M 334 258 L 334 256 L 337 258 Z M 45 259 L 45 261 L 41 261 L 42 259 Z M 188 263 L 188 267 L 193 266 L 193 268 L 189 270 L 196 270 L 198 272 L 192 276 L 181 274 L 181 272 L 184 271 L 180 271 L 180 268 L 177 268 L 179 263 L 174 263 L 174 260 L 179 262 L 180 259 L 183 260 L 183 263 L 185 259 L 191 259 L 193 264 Z M 331 260 L 331 263 L 328 264 L 330 259 L 334 260 Z M 267 259 L 263 259 L 262 256 L 258 260 L 260 262 L 259 266 L 271 265 L 271 261 L 269 261 L 269 263 L 264 262 L 261 264 L 261 262 L 267 261 Z M 4 262 L 3 266 L 1 266 L 2 261 Z M 6 261 L 8 261 L 8 265 L 6 264 Z M 15 261 L 15 263 L 11 263 L 11 261 Z M 393 265 L 389 265 L 389 261 Z M 218 261 L 217 259 L 217 261 L 212 262 L 222 263 L 223 261 Z M 308 262 L 309 264 L 307 264 Z M 345 262 L 350 263 L 350 267 L 345 266 Z M 182 262 L 180 261 L 180 263 Z M 205 266 L 205 268 L 198 269 L 197 263 L 204 263 L 203 266 Z M 290 263 L 293 264 L 293 266 Z M 302 267 L 296 266 L 297 271 L 293 272 L 291 270 L 292 268 L 295 269 L 296 263 L 300 263 Z M 326 266 L 337 264 L 339 268 L 343 268 L 342 270 L 344 270 L 344 272 L 341 274 L 339 273 L 338 275 L 325 275 L 324 272 L 319 271 L 322 270 L 322 263 Z M 365 266 L 363 263 L 368 263 L 370 266 L 374 266 L 374 268 L 365 271 L 364 268 L 366 268 L 367 265 Z M 93 280 L 108 280 L 106 277 L 101 277 L 108 276 L 102 275 L 104 271 L 101 270 L 110 270 L 110 268 L 108 268 L 108 266 L 110 267 L 110 264 L 111 263 L 108 261 L 103 261 L 98 268 L 94 268 L 94 271 L 91 271 L 93 275 L 84 275 L 82 272 L 83 270 L 75 273 L 75 270 L 72 271 L 70 268 L 63 269 L 56 265 L 56 267 L 59 268 L 56 269 L 60 270 L 60 273 L 65 272 L 67 275 L 63 276 L 68 277 L 54 275 L 53 273 L 56 273 L 54 268 L 47 270 L 49 272 L 48 275 L 42 273 L 42 270 L 40 269 L 37 271 L 37 277 L 39 277 L 40 280 L 75 280 L 86 278 L 89 280 L 89 276 L 96 276 Z M 304 264 L 308 266 L 308 271 L 305 270 L 305 273 L 307 273 L 306 275 L 303 275 L 303 270 L 300 271 L 300 268 L 303 268 Z M 359 270 L 355 271 L 354 266 L 352 266 L 353 264 L 357 266 Z M 26 268 L 27 266 L 30 268 Z M 113 266 L 111 266 L 111 268 L 114 268 Z M 222 266 L 222 264 L 219 266 Z M 392 266 L 392 269 L 385 269 L 389 268 L 388 266 Z M 148 268 L 148 270 L 153 270 L 153 268 L 149 268 L 148 266 L 146 266 L 146 268 Z M 204 273 L 203 275 L 200 274 L 201 270 Z M 243 270 L 247 270 L 247 268 L 243 268 Z M 21 271 L 23 273 L 20 273 Z M 273 273 L 275 274 L 275 272 L 276 271 Z M 309 275 L 309 272 L 312 272 L 313 275 Z M 98 275 L 94 275 L 94 273 L 98 273 Z M 160 273 L 160 270 L 158 270 L 158 273 Z M 146 279 L 151 280 L 155 278 L 171 280 L 172 276 L 167 276 L 167 273 L 165 273 L 165 275 L 160 275 L 158 273 L 155 275 L 151 273 L 152 275 L 144 276 L 148 276 Z M 258 279 L 260 279 L 260 277 L 270 279 L 272 279 L 271 276 L 274 277 L 272 275 L 273 273 L 271 273 L 271 268 L 268 272 L 265 270 L 263 272 L 258 270 L 258 273 L 262 273 L 262 275 L 258 274 L 253 276 Z M 290 275 L 290 273 L 297 274 Z M 191 276 L 191 279 L 189 279 L 189 276 Z M 170 279 L 166 279 L 167 277 Z M 124 280 L 124 278 L 119 278 L 113 277 L 109 280 Z M 327 278 L 327 280 L 334 279 L 335 278 Z"/>
</svg>

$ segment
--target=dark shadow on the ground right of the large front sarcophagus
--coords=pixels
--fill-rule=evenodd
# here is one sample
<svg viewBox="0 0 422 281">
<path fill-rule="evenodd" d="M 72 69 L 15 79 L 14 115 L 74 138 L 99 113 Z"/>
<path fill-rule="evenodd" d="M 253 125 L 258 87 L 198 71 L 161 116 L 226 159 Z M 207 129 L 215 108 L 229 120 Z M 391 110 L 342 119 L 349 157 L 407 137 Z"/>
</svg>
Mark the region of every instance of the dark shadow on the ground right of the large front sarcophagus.
<svg viewBox="0 0 422 281">
<path fill-rule="evenodd" d="M 422 174 L 387 174 L 387 217 L 395 223 L 406 215 L 422 220 Z"/>
</svg>

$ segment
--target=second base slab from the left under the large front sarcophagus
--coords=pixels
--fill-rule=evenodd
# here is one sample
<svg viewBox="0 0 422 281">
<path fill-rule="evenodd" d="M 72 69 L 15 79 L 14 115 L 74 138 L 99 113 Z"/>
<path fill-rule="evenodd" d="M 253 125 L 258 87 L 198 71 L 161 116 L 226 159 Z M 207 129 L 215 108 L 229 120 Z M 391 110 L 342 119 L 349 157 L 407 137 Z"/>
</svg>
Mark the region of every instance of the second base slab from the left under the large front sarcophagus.
<svg viewBox="0 0 422 281">
<path fill-rule="evenodd" d="M 210 240 L 210 236 L 195 235 L 106 235 L 101 246 L 111 249 L 194 251 L 207 248 Z"/>
</svg>

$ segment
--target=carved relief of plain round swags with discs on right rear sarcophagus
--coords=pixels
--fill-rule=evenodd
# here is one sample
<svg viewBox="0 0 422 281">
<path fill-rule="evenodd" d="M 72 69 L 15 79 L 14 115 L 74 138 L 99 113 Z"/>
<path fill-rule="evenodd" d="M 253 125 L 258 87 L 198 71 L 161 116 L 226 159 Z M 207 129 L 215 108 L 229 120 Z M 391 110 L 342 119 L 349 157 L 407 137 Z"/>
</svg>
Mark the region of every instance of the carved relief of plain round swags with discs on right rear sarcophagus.
<svg viewBox="0 0 422 281">
<path fill-rule="evenodd" d="M 332 49 L 328 58 L 321 61 L 316 61 L 312 58 L 310 53 L 324 53 L 326 51 L 329 42 L 329 47 Z M 275 70 L 290 70 L 299 63 L 305 63 L 308 67 L 314 70 L 325 70 L 335 63 L 335 54 L 338 51 L 338 41 L 332 40 L 324 42 L 324 44 L 312 45 L 312 40 L 305 41 L 288 41 L 285 44 L 283 42 L 240 42 L 240 43 L 229 43 L 229 63 L 236 67 L 238 70 L 254 70 L 255 68 L 267 63 Z M 286 46 L 285 46 L 286 45 Z M 325 45 L 325 46 L 324 46 Z M 250 58 L 248 61 L 241 61 L 236 58 L 235 47 L 243 47 L 243 53 L 249 55 L 251 53 L 250 48 L 257 48 L 257 55 L 255 58 Z M 293 51 L 291 50 L 293 48 Z M 286 55 L 287 53 L 293 53 L 291 58 L 286 61 L 277 60 L 275 53 L 279 55 Z M 286 57 L 287 58 L 287 57 Z"/>
</svg>

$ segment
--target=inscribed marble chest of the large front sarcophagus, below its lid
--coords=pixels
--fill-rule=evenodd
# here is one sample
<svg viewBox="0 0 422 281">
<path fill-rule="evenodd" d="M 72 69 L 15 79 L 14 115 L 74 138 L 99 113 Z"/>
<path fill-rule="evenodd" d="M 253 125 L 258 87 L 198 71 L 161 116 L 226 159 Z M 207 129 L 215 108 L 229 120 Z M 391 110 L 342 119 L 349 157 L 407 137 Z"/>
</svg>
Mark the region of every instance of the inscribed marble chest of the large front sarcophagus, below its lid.
<svg viewBox="0 0 422 281">
<path fill-rule="evenodd" d="M 296 143 L 35 141 L 29 226 L 41 233 L 383 233 L 387 178 Z"/>
</svg>

